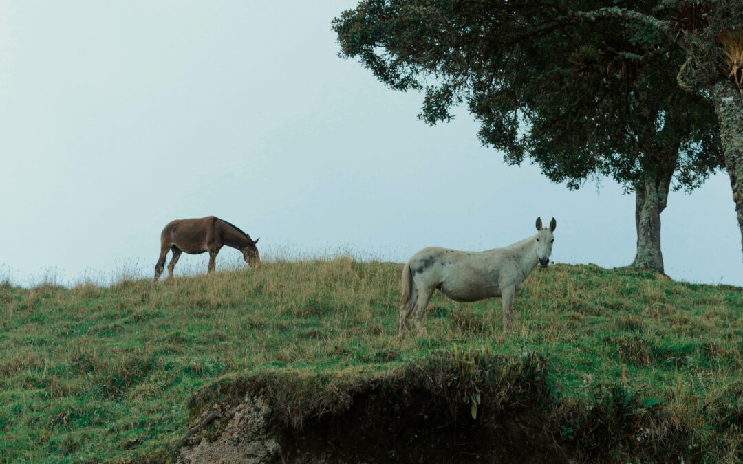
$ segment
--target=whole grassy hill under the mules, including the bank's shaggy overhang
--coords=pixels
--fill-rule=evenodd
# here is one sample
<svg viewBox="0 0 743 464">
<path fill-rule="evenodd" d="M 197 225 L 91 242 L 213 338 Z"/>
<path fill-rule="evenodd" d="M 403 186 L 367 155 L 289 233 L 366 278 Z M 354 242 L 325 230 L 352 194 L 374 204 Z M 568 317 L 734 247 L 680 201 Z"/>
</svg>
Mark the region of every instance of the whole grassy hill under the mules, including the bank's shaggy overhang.
<svg viewBox="0 0 743 464">
<path fill-rule="evenodd" d="M 401 268 L 342 258 L 113 287 L 5 284 L 0 460 L 171 458 L 200 414 L 251 392 L 271 403 L 282 448 L 337 437 L 352 413 L 379 414 L 357 432 L 383 440 L 415 427 L 464 430 L 480 448 L 533 440 L 513 456 L 743 460 L 741 288 L 558 264 L 516 296 L 513 333 L 499 299 L 437 294 L 429 335 L 400 340 Z M 396 421 L 405 429 L 384 425 Z M 386 457 L 406 460 L 403 448 Z"/>
</svg>

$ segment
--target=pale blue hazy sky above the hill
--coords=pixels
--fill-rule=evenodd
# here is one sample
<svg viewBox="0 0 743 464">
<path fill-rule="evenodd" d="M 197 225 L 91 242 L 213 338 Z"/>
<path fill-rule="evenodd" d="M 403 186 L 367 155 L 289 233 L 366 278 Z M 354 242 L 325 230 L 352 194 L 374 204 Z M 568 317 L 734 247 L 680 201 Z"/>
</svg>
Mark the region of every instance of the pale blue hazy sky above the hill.
<svg viewBox="0 0 743 464">
<path fill-rule="evenodd" d="M 163 226 L 207 215 L 265 259 L 490 249 L 541 216 L 552 261 L 632 261 L 635 199 L 616 183 L 571 192 L 508 166 L 464 109 L 429 127 L 421 94 L 340 59 L 331 19 L 355 4 L 0 0 L 0 280 L 149 277 Z M 743 285 L 726 173 L 661 218 L 668 275 Z M 240 259 L 225 248 L 218 268 Z"/>
</svg>

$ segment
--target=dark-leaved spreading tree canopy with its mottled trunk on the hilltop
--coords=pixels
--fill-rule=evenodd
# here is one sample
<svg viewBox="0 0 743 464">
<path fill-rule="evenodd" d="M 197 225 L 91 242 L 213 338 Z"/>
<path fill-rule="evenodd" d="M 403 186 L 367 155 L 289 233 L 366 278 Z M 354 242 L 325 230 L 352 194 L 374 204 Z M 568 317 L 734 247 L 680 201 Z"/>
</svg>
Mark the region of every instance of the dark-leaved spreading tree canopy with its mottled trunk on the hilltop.
<svg viewBox="0 0 743 464">
<path fill-rule="evenodd" d="M 739 30 L 742 7 L 610 4 L 367 0 L 335 19 L 334 30 L 341 54 L 382 82 L 425 90 L 426 122 L 449 120 L 451 106 L 466 102 L 481 140 L 511 163 L 528 155 L 573 188 L 607 174 L 634 190 L 637 265 L 662 269 L 659 215 L 671 175 L 678 188 L 701 183 L 722 163 L 721 133 L 743 241 L 743 104 L 730 99 L 736 83 L 719 72 L 713 33 Z M 727 64 L 739 77 L 739 36 L 726 34 Z"/>
</svg>

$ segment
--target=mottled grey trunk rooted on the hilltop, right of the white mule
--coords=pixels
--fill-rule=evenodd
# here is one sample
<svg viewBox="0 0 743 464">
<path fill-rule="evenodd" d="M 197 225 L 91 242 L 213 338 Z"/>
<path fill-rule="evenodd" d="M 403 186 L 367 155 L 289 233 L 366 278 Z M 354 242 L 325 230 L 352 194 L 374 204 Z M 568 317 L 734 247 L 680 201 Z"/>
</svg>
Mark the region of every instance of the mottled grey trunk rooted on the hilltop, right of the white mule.
<svg viewBox="0 0 743 464">
<path fill-rule="evenodd" d="M 663 272 L 661 252 L 661 212 L 666 209 L 673 170 L 647 177 L 635 186 L 635 227 L 637 253 L 632 267 Z"/>
</svg>

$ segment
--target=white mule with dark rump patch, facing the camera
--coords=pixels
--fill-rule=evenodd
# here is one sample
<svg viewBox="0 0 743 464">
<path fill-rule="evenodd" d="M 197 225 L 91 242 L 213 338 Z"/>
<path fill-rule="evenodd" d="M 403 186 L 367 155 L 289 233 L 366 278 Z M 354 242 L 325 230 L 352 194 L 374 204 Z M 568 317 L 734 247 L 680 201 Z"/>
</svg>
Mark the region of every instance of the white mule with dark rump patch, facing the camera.
<svg viewBox="0 0 743 464">
<path fill-rule="evenodd" d="M 403 267 L 400 296 L 400 333 L 405 321 L 415 312 L 418 336 L 426 334 L 423 318 L 434 290 L 441 290 L 454 301 L 471 302 L 500 296 L 503 304 L 503 330 L 513 320 L 513 295 L 537 264 L 547 267 L 557 222 L 542 229 L 542 218 L 536 218 L 536 235 L 505 248 L 484 252 L 463 252 L 447 248 L 424 248 L 415 253 Z"/>
</svg>

